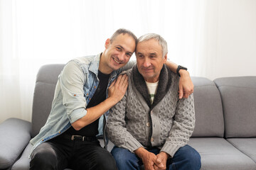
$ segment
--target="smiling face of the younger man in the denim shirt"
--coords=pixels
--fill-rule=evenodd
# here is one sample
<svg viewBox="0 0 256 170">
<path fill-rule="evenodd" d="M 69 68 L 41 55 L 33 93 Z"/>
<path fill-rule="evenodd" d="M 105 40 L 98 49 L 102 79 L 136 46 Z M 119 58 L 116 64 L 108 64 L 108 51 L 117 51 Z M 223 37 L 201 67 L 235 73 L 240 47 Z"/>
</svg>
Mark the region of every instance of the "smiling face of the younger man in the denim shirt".
<svg viewBox="0 0 256 170">
<path fill-rule="evenodd" d="M 119 34 L 114 40 L 107 39 L 105 42 L 105 52 L 102 61 L 105 64 L 106 73 L 111 73 L 123 67 L 129 62 L 136 47 L 136 42 L 129 34 Z M 102 69 L 100 69 L 102 72 Z"/>
</svg>

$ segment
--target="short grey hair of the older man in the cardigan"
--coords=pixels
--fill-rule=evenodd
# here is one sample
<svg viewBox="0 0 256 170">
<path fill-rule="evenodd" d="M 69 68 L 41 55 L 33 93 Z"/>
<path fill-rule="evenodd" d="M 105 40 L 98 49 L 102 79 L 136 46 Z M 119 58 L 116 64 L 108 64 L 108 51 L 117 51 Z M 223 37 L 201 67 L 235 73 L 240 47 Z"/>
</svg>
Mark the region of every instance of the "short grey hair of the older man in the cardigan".
<svg viewBox="0 0 256 170">
<path fill-rule="evenodd" d="M 162 48 L 162 53 L 163 53 L 163 57 L 165 55 L 167 55 L 168 49 L 167 49 L 167 42 L 166 40 L 164 40 L 164 38 L 161 37 L 161 35 L 155 34 L 155 33 L 148 33 L 145 35 L 142 35 L 139 39 L 138 42 L 144 42 L 144 41 L 148 41 L 148 40 L 157 40 L 159 42 L 159 45 L 161 45 Z"/>
</svg>

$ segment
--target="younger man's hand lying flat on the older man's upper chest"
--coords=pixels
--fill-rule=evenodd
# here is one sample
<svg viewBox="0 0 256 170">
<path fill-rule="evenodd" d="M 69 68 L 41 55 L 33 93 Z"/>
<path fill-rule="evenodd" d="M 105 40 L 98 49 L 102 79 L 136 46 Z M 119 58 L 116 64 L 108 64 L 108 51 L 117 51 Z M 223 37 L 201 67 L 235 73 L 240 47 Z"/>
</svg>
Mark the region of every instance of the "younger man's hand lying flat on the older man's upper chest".
<svg viewBox="0 0 256 170">
<path fill-rule="evenodd" d="M 108 97 L 112 98 L 116 103 L 119 102 L 127 91 L 128 77 L 127 74 L 122 74 L 115 79 L 108 89 Z"/>
</svg>

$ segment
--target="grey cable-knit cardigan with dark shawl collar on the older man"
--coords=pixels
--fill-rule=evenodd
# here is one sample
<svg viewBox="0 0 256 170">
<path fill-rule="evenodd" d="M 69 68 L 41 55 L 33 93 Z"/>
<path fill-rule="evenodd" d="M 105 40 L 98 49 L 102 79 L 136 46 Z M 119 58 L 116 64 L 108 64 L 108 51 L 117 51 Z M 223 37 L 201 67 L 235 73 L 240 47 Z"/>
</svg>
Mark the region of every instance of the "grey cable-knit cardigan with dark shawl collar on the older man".
<svg viewBox="0 0 256 170">
<path fill-rule="evenodd" d="M 107 137 L 117 147 L 134 152 L 139 147 L 159 147 L 174 157 L 187 144 L 195 126 L 193 94 L 178 99 L 179 77 L 165 65 L 151 104 L 146 82 L 134 65 L 127 71 L 124 98 L 110 109 Z"/>
</svg>

